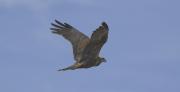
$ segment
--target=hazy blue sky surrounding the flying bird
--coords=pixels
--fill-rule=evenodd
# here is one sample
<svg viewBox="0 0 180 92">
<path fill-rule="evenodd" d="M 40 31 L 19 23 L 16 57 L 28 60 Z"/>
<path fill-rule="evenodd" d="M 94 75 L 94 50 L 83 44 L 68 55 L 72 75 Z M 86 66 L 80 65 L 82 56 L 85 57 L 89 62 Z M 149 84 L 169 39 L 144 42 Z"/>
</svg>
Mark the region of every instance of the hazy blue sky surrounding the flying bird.
<svg viewBox="0 0 180 92">
<path fill-rule="evenodd" d="M 180 92 L 179 0 L 0 0 L 0 92 Z M 96 68 L 73 64 L 58 19 L 91 35 L 110 27 Z"/>
</svg>

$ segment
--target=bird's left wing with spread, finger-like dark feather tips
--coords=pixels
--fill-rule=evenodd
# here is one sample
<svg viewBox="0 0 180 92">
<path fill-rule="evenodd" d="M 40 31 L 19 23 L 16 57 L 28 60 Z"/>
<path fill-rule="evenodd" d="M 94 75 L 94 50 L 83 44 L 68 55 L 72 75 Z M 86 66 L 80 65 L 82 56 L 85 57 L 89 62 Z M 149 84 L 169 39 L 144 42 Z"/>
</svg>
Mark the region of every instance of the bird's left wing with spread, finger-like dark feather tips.
<svg viewBox="0 0 180 92">
<path fill-rule="evenodd" d="M 81 59 L 84 48 L 90 41 L 89 37 L 67 23 L 61 23 L 58 20 L 55 20 L 55 22 L 56 24 L 51 23 L 54 26 L 54 28 L 51 28 L 52 32 L 62 35 L 70 41 L 73 47 L 74 59 L 78 62 Z"/>
</svg>

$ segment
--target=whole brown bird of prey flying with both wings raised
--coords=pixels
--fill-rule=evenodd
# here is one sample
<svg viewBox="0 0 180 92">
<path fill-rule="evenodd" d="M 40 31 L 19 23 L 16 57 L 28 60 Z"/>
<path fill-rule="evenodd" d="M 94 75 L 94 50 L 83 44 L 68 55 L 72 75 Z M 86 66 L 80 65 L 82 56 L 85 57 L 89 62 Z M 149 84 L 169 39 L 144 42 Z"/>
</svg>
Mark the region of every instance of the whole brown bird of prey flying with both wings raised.
<svg viewBox="0 0 180 92">
<path fill-rule="evenodd" d="M 53 26 L 50 28 L 53 30 L 52 33 L 63 36 L 72 44 L 76 61 L 73 65 L 58 71 L 90 68 L 106 62 L 105 58 L 99 56 L 102 46 L 108 39 L 109 28 L 105 22 L 102 22 L 90 38 L 67 23 L 55 20 L 55 23 L 51 23 L 51 25 Z"/>
</svg>

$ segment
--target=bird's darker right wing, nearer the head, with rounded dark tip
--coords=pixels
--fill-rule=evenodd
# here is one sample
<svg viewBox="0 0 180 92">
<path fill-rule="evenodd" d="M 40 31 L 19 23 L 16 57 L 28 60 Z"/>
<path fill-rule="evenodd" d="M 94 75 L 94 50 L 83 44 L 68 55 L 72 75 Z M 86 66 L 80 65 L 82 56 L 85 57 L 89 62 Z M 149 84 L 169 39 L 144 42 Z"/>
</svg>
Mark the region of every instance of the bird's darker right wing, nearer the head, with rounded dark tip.
<svg viewBox="0 0 180 92">
<path fill-rule="evenodd" d="M 83 52 L 84 58 L 99 57 L 100 50 L 108 39 L 108 31 L 108 25 L 102 22 L 102 25 L 92 33 L 90 42 Z"/>
</svg>

